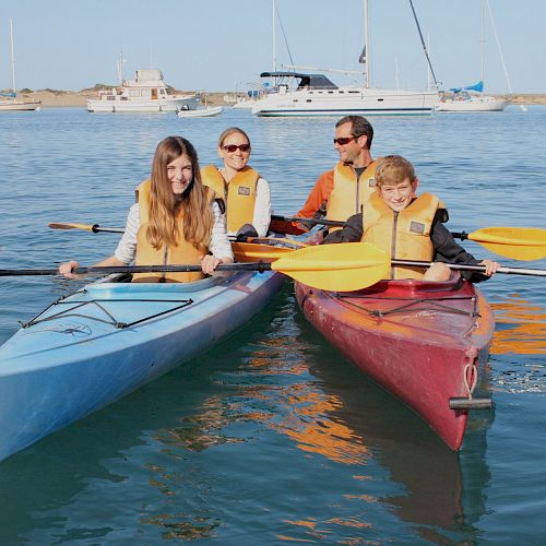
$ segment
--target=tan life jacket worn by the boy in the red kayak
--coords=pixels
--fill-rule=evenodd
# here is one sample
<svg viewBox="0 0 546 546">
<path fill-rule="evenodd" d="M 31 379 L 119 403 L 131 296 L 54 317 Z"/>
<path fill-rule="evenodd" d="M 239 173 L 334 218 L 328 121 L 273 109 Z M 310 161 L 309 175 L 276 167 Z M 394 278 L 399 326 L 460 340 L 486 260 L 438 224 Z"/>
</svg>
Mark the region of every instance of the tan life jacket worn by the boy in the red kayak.
<svg viewBox="0 0 546 546">
<path fill-rule="evenodd" d="M 361 240 L 384 250 L 391 259 L 431 261 L 435 248 L 430 229 L 438 209 L 444 209 L 438 198 L 423 193 L 396 213 L 379 193 L 373 193 L 363 214 Z M 425 271 L 423 268 L 391 268 L 391 278 L 423 278 Z"/>
</svg>

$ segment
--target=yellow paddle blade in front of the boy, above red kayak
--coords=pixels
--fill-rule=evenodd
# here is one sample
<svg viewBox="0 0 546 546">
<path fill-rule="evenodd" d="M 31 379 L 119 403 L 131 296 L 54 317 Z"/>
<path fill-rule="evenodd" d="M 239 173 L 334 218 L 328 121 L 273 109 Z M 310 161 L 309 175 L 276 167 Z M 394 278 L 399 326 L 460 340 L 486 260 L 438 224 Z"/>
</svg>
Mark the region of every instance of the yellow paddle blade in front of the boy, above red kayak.
<svg viewBox="0 0 546 546">
<path fill-rule="evenodd" d="M 307 247 L 283 256 L 271 269 L 322 290 L 351 292 L 389 277 L 390 259 L 367 242 Z"/>
</svg>

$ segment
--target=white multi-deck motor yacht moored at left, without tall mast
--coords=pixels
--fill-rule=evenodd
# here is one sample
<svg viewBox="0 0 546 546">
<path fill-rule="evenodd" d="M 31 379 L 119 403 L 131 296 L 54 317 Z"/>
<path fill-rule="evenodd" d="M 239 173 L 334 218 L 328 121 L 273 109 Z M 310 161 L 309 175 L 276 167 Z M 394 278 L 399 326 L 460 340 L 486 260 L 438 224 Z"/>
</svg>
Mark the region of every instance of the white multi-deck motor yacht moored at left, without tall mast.
<svg viewBox="0 0 546 546">
<path fill-rule="evenodd" d="M 163 73 L 156 69 L 136 70 L 134 80 L 122 80 L 119 87 L 98 92 L 97 99 L 87 99 L 91 112 L 166 112 L 194 110 L 195 93 L 170 95 Z"/>
</svg>

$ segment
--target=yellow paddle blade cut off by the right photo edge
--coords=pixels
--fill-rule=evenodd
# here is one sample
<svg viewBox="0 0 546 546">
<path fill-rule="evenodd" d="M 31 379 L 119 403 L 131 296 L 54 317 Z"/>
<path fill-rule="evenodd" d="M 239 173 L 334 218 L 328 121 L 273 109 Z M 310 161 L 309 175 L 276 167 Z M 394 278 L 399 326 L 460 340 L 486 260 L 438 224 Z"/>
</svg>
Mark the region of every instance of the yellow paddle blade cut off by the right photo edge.
<svg viewBox="0 0 546 546">
<path fill-rule="evenodd" d="M 546 229 L 536 227 L 485 227 L 468 234 L 468 239 L 513 260 L 546 258 Z"/>
</svg>

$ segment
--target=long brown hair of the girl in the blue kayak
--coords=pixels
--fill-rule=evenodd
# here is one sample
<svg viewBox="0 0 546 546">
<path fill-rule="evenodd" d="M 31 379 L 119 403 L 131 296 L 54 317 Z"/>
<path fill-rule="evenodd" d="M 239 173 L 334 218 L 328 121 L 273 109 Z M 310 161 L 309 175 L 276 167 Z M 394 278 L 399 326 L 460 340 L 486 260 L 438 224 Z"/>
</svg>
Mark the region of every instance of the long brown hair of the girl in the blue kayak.
<svg viewBox="0 0 546 546">
<path fill-rule="evenodd" d="M 181 198 L 173 193 L 167 177 L 167 165 L 182 154 L 191 162 L 193 179 Z M 211 241 L 214 224 L 207 190 L 201 182 L 195 149 L 182 136 L 167 136 L 157 145 L 152 163 L 146 238 L 155 248 L 176 246 L 179 213 L 183 217 L 183 237 L 198 249 Z"/>
</svg>

